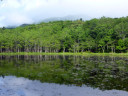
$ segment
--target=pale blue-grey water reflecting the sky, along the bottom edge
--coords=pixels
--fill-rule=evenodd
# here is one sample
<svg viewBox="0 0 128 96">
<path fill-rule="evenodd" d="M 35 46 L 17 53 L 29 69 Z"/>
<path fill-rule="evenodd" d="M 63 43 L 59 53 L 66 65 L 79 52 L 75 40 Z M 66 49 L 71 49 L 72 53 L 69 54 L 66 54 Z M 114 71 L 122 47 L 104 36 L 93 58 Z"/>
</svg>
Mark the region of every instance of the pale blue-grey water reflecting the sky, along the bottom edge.
<svg viewBox="0 0 128 96">
<path fill-rule="evenodd" d="M 0 96 L 128 96 L 119 90 L 101 91 L 87 86 L 41 83 L 15 76 L 0 78 Z"/>
</svg>

